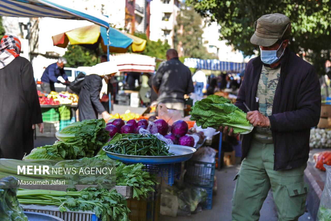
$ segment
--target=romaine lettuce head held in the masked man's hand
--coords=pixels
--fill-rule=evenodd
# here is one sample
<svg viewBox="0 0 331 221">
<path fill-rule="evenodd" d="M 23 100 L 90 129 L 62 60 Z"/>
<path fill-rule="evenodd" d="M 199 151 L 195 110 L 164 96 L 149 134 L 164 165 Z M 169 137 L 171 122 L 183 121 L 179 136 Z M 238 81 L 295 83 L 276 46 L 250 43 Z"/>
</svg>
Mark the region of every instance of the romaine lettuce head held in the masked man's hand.
<svg viewBox="0 0 331 221">
<path fill-rule="evenodd" d="M 248 134 L 254 128 L 242 110 L 231 104 L 230 100 L 218 95 L 209 95 L 201 101 L 196 101 L 191 107 L 190 114 L 190 120 L 196 121 L 197 126 L 203 129 L 228 126 L 233 128 L 234 133 Z"/>
</svg>

